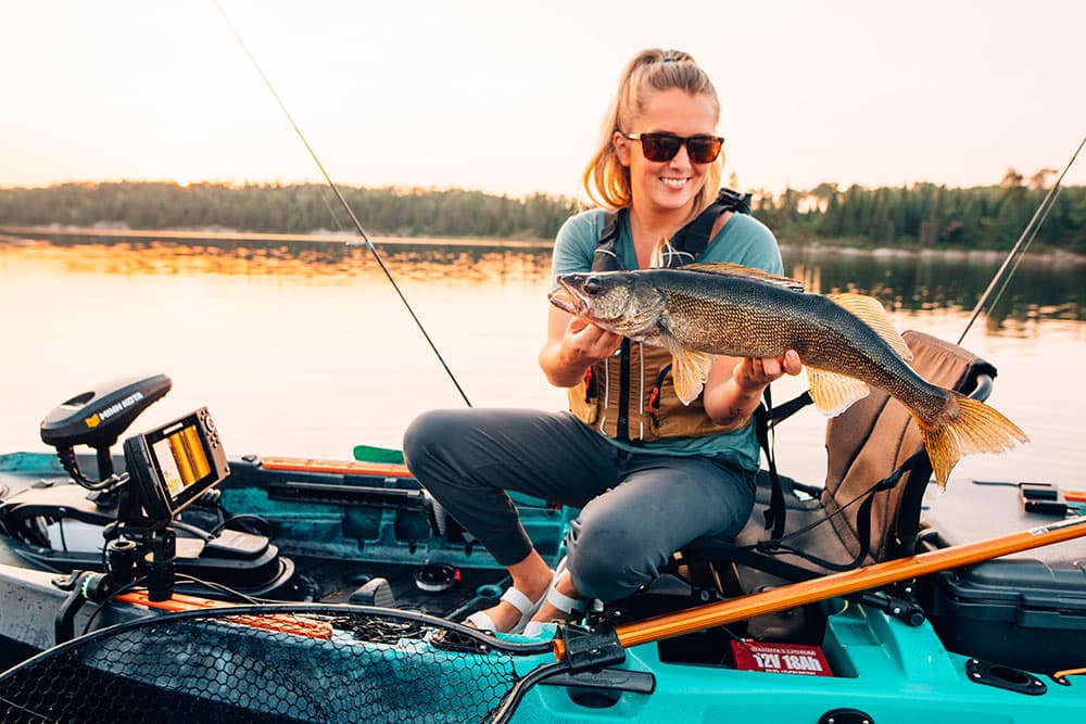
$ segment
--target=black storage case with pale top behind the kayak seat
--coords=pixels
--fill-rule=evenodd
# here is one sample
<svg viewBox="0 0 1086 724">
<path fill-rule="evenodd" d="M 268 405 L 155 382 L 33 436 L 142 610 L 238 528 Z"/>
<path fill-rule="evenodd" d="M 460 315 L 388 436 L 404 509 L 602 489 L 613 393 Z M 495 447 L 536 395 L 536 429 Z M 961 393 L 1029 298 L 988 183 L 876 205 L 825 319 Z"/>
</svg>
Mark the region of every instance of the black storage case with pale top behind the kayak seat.
<svg viewBox="0 0 1086 724">
<path fill-rule="evenodd" d="M 1071 513 L 1073 515 L 1073 513 Z M 1026 512 L 1016 485 L 934 486 L 923 519 L 944 547 L 1039 528 L 1064 516 Z M 921 586 L 951 651 L 1039 673 L 1086 666 L 1086 538 L 944 571 Z"/>
</svg>

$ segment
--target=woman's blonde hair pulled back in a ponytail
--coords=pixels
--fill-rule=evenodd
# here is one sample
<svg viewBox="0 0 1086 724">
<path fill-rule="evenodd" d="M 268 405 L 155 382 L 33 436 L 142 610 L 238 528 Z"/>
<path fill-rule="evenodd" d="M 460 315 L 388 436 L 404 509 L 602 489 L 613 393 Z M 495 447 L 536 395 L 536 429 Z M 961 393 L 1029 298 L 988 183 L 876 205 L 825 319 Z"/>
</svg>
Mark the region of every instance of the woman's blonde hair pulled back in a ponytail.
<svg viewBox="0 0 1086 724">
<path fill-rule="evenodd" d="M 609 211 L 618 211 L 633 201 L 630 169 L 619 162 L 615 153 L 615 131 L 629 132 L 634 120 L 644 113 L 649 94 L 673 88 L 691 96 L 708 96 L 717 116 L 720 116 L 717 89 L 705 71 L 687 53 L 657 48 L 637 53 L 622 71 L 618 93 L 604 117 L 599 147 L 581 177 L 584 190 L 594 203 Z M 716 198 L 723 158 L 721 153 L 709 166 L 705 185 L 694 196 L 691 217 L 705 211 Z"/>
</svg>

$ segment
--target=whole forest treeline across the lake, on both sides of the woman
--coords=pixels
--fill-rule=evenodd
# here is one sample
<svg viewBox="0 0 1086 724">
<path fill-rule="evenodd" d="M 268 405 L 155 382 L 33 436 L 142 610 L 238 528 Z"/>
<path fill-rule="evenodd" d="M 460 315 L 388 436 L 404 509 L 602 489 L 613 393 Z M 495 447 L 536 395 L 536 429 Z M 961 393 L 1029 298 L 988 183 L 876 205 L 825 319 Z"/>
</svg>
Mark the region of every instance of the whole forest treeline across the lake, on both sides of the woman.
<svg viewBox="0 0 1086 724">
<path fill-rule="evenodd" d="M 755 194 L 754 215 L 784 242 L 860 247 L 1008 249 L 1047 193 L 1043 169 L 999 185 L 813 189 Z M 552 239 L 578 209 L 565 196 L 510 199 L 465 190 L 341 188 L 372 236 Z M 116 226 L 310 233 L 352 229 L 320 185 L 63 183 L 0 189 L 0 226 Z M 1063 187 L 1035 247 L 1086 254 L 1086 187 Z"/>
</svg>

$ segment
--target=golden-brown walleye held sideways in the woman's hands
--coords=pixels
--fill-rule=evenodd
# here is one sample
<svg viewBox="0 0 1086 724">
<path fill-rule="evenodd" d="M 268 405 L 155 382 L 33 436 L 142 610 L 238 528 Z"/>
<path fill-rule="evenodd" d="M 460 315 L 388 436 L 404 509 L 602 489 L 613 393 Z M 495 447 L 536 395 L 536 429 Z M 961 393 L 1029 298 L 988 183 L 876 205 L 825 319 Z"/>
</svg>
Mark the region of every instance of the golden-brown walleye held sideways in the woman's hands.
<svg viewBox="0 0 1086 724">
<path fill-rule="evenodd" d="M 666 347 L 675 394 L 700 394 L 714 355 L 783 357 L 795 350 L 815 406 L 844 412 L 879 388 L 920 429 L 940 487 L 965 455 L 1002 453 L 1028 442 L 988 405 L 932 384 L 882 304 L 863 294 L 816 294 L 787 277 L 736 264 L 564 274 L 548 300 L 633 341 Z"/>
</svg>

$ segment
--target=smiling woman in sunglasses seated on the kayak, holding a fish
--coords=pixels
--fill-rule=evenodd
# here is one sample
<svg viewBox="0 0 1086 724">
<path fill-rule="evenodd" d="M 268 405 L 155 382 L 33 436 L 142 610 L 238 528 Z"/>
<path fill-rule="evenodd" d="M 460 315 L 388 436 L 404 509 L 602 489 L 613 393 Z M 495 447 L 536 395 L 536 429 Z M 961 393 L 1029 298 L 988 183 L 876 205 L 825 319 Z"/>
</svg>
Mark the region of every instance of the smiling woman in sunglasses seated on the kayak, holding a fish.
<svg viewBox="0 0 1086 724">
<path fill-rule="evenodd" d="M 559 230 L 555 277 L 694 257 L 782 271 L 765 226 L 714 205 L 719 110 L 690 55 L 646 50 L 628 64 L 584 173 L 603 208 Z M 705 239 L 690 249 L 665 241 L 696 237 L 695 227 Z M 750 416 L 767 384 L 801 369 L 792 351 L 779 359 L 718 356 L 687 407 L 674 398 L 666 353 L 553 306 L 539 361 L 551 383 L 570 389 L 576 415 L 434 410 L 404 436 L 419 483 L 509 571 L 502 600 L 468 618 L 479 628 L 517 633 L 531 621 L 568 620 L 585 599 L 614 600 L 651 583 L 691 541 L 734 536 L 754 505 Z M 582 509 L 558 572 L 532 547 L 505 491 Z"/>
</svg>

